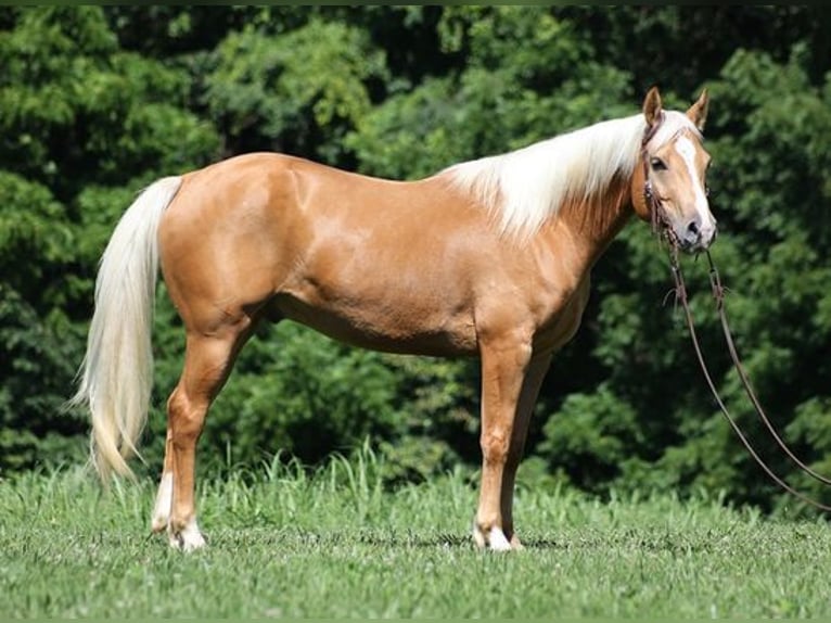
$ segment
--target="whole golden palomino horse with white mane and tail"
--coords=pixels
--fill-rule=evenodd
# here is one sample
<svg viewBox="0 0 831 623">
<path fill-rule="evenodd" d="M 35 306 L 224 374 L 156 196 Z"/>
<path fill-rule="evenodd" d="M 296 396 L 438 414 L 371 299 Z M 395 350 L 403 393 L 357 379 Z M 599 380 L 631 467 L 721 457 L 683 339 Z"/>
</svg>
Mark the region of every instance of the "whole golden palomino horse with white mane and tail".
<svg viewBox="0 0 831 623">
<path fill-rule="evenodd" d="M 99 471 L 130 473 L 146 420 L 161 260 L 186 330 L 152 516 L 171 545 L 205 543 L 194 459 L 212 400 L 255 326 L 290 319 L 369 348 L 478 356 L 473 536 L 481 547 L 520 547 L 513 488 L 528 419 L 552 354 L 579 326 L 592 266 L 652 205 L 687 251 L 715 237 L 706 111 L 706 91 L 680 113 L 664 111 L 653 88 L 642 114 L 418 181 L 254 153 L 154 182 L 120 219 L 95 284 L 74 400 L 89 405 Z"/>
</svg>

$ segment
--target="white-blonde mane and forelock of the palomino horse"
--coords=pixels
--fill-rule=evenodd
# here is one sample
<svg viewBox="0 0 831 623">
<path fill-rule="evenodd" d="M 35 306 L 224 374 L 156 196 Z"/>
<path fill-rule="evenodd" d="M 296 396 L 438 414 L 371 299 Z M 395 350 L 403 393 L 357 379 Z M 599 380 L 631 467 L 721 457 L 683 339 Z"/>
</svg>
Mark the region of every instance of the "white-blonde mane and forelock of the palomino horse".
<svg viewBox="0 0 831 623">
<path fill-rule="evenodd" d="M 631 175 L 647 128 L 643 115 L 601 122 L 501 155 L 451 166 L 457 188 L 493 212 L 502 233 L 533 236 L 570 199 L 602 191 L 616 175 Z M 660 145 L 681 129 L 698 129 L 687 115 L 666 111 L 651 141 Z"/>
</svg>

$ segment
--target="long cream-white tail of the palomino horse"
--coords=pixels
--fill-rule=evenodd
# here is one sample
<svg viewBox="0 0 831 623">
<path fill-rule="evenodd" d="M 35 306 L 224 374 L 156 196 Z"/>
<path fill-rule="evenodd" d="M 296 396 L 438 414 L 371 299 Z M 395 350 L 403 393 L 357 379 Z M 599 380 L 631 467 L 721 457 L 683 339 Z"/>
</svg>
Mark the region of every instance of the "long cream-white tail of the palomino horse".
<svg viewBox="0 0 831 623">
<path fill-rule="evenodd" d="M 95 279 L 95 310 L 87 354 L 71 404 L 92 419 L 92 462 L 102 479 L 132 475 L 126 459 L 148 420 L 153 386 L 151 329 L 158 271 L 158 224 L 181 177 L 148 187 L 119 220 Z"/>
</svg>

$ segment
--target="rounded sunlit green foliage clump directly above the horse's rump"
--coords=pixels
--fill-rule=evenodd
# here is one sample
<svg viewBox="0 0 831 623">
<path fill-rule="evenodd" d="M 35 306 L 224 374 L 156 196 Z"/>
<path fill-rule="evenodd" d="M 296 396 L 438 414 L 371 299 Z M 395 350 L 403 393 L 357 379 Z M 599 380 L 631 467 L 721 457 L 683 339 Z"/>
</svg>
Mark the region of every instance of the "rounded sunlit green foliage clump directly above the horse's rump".
<svg viewBox="0 0 831 623">
<path fill-rule="evenodd" d="M 361 30 L 312 20 L 285 35 L 230 34 L 207 77 L 212 117 L 234 150 L 272 149 L 335 161 L 335 141 L 370 109 L 368 82 L 384 55 Z"/>
</svg>

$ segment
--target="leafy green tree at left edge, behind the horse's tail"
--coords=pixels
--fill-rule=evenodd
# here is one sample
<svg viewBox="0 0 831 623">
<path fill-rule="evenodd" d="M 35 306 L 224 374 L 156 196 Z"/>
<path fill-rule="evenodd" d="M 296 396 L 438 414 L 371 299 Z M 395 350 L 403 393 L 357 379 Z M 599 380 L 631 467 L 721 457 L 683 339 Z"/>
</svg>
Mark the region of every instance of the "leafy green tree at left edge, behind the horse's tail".
<svg viewBox="0 0 831 623">
<path fill-rule="evenodd" d="M 95 264 L 130 187 L 203 163 L 217 147 L 213 129 L 176 105 L 184 74 L 122 53 L 100 8 L 5 17 L 0 468 L 65 456 L 47 450 L 80 432 L 61 405 L 82 357 Z"/>
</svg>

